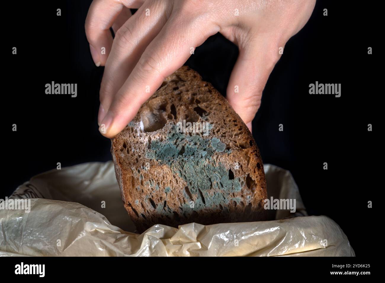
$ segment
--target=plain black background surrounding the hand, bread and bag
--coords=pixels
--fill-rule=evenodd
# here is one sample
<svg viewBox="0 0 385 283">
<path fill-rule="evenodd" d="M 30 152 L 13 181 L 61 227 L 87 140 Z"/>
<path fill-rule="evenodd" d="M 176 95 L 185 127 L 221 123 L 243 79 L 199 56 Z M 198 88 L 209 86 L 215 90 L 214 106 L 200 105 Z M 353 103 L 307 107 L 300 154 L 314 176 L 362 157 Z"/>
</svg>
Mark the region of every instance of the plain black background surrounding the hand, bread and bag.
<svg viewBox="0 0 385 283">
<path fill-rule="evenodd" d="M 98 132 L 102 67 L 95 67 L 84 32 L 91 0 L 2 3 L 5 30 L 3 179 L 0 198 L 33 175 L 89 161 L 111 160 Z M 285 46 L 264 89 L 253 135 L 264 163 L 290 170 L 310 215 L 327 215 L 357 256 L 375 251 L 375 208 L 383 190 L 379 137 L 382 82 L 378 72 L 377 2 L 317 1 L 306 26 Z M 56 9 L 62 15 L 56 15 Z M 328 16 L 323 16 L 323 9 Z M 17 55 L 12 55 L 17 47 Z M 368 47 L 373 55 L 368 55 Z M 186 62 L 221 93 L 238 49 L 220 34 Z M 263 55 L 261 55 L 263 56 Z M 381 65 L 382 66 L 382 65 Z M 377 68 L 376 68 L 377 67 Z M 382 67 L 381 67 L 382 68 Z M 46 95 L 45 84 L 77 83 L 77 97 Z M 341 83 L 341 97 L 310 95 L 309 84 Z M 284 131 L 278 131 L 278 125 Z M 368 132 L 368 124 L 373 132 Z M 17 132 L 12 131 L 17 124 Z M 323 163 L 328 170 L 323 170 Z M 376 197 L 376 199 L 374 199 Z"/>
</svg>

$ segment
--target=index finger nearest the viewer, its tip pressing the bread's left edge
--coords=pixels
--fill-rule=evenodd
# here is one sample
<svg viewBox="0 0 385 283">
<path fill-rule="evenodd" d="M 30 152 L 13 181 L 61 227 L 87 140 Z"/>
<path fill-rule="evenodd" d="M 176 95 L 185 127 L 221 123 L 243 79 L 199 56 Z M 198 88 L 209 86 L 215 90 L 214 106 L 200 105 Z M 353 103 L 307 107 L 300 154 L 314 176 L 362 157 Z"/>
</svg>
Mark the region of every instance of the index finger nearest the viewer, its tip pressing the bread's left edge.
<svg viewBox="0 0 385 283">
<path fill-rule="evenodd" d="M 126 127 L 141 105 L 190 57 L 190 48 L 201 45 L 219 31 L 208 21 L 170 19 L 142 54 L 130 76 L 114 97 L 100 132 L 114 137 Z M 146 92 L 146 87 L 149 92 Z"/>
</svg>

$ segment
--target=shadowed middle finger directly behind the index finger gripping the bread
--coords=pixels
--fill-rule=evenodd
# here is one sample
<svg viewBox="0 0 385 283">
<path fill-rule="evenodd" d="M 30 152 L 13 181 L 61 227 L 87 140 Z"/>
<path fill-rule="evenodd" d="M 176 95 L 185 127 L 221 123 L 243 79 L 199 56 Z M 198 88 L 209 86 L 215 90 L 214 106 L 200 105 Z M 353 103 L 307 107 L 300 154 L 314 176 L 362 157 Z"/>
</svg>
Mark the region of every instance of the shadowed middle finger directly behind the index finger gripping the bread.
<svg viewBox="0 0 385 283">
<path fill-rule="evenodd" d="M 117 31 L 100 85 L 99 125 L 115 94 L 127 80 L 146 47 L 166 23 L 171 9 L 167 1 L 149 1 Z"/>
</svg>

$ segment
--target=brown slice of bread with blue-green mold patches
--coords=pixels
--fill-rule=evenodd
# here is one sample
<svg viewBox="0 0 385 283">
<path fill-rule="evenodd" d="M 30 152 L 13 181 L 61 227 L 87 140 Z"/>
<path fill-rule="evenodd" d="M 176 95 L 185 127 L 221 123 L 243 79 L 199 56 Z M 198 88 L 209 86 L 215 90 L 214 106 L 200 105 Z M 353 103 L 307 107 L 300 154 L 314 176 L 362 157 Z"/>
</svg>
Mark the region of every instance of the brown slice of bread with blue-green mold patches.
<svg viewBox="0 0 385 283">
<path fill-rule="evenodd" d="M 112 139 L 111 153 L 139 233 L 154 224 L 265 220 L 266 180 L 253 136 L 189 67 L 166 78 Z"/>
</svg>

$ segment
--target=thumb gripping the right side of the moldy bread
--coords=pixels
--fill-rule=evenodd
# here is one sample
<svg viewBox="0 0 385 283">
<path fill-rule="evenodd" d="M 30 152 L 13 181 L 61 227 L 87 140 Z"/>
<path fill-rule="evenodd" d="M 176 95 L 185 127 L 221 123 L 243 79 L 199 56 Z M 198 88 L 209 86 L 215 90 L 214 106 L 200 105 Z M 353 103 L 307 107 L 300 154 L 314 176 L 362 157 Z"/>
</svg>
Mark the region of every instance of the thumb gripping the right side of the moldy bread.
<svg viewBox="0 0 385 283">
<path fill-rule="evenodd" d="M 239 56 L 227 87 L 230 105 L 251 132 L 251 122 L 261 105 L 262 91 L 275 63 L 279 47 L 265 38 L 256 38 L 239 48 Z"/>
</svg>

